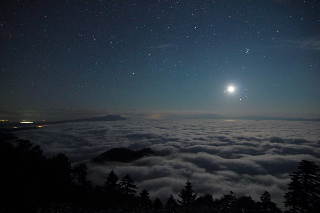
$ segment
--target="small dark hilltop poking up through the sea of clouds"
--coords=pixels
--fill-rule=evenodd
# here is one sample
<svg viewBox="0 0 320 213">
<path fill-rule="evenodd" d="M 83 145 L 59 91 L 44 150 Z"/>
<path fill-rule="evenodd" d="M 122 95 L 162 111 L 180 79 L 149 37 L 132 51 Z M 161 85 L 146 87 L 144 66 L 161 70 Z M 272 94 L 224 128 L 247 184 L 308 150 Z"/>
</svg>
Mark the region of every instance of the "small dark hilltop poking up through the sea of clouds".
<svg viewBox="0 0 320 213">
<path fill-rule="evenodd" d="M 92 158 L 92 161 L 102 163 L 105 161 L 117 161 L 117 162 L 131 162 L 142 158 L 145 155 L 153 154 L 151 148 L 144 148 L 140 151 L 132 151 L 126 148 L 113 148 L 104 152 L 97 157 Z"/>
</svg>

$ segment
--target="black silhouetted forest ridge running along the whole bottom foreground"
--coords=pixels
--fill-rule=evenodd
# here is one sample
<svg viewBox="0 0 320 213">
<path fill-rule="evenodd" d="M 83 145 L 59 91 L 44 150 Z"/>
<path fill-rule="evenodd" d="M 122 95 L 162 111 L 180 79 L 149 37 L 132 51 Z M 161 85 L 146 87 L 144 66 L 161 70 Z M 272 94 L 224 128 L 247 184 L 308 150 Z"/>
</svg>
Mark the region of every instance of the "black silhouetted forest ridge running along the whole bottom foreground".
<svg viewBox="0 0 320 213">
<path fill-rule="evenodd" d="M 165 201 L 150 200 L 147 190 L 139 188 L 129 174 L 120 179 L 113 170 L 103 186 L 93 187 L 87 180 L 87 167 L 74 167 L 62 153 L 46 158 L 38 145 L 17 139 L 0 142 L 0 212 L 282 212 L 265 191 L 260 201 L 233 192 L 213 199 L 198 196 L 188 179 L 179 198 L 168 195 Z M 302 160 L 285 193 L 287 212 L 318 212 L 320 175 L 315 162 Z"/>
</svg>

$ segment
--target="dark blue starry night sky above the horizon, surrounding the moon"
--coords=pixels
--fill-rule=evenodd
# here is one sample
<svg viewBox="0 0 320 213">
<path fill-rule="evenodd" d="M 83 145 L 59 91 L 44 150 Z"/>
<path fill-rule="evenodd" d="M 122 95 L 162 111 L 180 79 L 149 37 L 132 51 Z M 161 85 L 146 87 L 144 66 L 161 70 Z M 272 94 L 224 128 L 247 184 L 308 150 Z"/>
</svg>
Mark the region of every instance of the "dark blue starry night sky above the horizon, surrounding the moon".
<svg viewBox="0 0 320 213">
<path fill-rule="evenodd" d="M 3 119 L 320 117 L 317 1 L 6 0 L 0 8 Z"/>
</svg>

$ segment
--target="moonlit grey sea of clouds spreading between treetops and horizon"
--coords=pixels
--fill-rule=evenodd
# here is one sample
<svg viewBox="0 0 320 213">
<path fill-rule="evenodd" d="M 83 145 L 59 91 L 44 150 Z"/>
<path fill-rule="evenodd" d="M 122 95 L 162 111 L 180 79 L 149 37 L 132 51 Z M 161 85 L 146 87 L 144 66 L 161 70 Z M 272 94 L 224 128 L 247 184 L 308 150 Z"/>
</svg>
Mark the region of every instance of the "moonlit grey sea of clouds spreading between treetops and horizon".
<svg viewBox="0 0 320 213">
<path fill-rule="evenodd" d="M 233 191 L 259 201 L 267 190 L 278 207 L 299 161 L 320 165 L 320 122 L 222 119 L 127 120 L 52 124 L 15 132 L 40 145 L 44 155 L 66 154 L 73 165 L 84 162 L 88 179 L 103 185 L 111 169 L 120 179 L 129 174 L 163 202 L 189 178 L 198 196 L 213 198 Z M 90 159 L 112 148 L 156 154 L 139 160 L 97 164 Z"/>
</svg>

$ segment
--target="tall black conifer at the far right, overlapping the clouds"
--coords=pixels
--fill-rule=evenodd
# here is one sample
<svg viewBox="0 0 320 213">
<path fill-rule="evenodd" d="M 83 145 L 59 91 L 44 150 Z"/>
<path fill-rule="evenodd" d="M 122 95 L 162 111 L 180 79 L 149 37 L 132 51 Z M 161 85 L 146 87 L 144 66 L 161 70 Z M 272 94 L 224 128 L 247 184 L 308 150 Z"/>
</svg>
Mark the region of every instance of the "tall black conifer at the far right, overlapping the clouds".
<svg viewBox="0 0 320 213">
<path fill-rule="evenodd" d="M 316 209 L 320 201 L 320 175 L 319 166 L 315 162 L 302 160 L 299 162 L 298 172 L 293 172 L 291 183 L 288 184 L 290 192 L 285 193 L 284 205 L 291 207 L 289 212 L 303 212 Z"/>
</svg>

